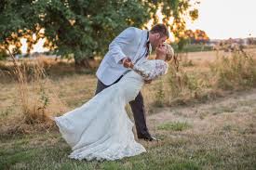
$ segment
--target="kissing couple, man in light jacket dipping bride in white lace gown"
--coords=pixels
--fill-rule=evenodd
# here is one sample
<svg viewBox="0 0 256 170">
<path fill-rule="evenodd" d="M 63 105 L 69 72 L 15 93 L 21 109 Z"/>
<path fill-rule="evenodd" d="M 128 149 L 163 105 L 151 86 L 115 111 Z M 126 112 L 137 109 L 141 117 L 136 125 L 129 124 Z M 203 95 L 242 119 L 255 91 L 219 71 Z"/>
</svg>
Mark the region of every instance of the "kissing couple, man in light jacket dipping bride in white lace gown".
<svg viewBox="0 0 256 170">
<path fill-rule="evenodd" d="M 133 112 L 138 138 L 154 141 L 147 128 L 141 87 L 167 73 L 174 53 L 165 41 L 168 29 L 156 24 L 150 31 L 129 27 L 115 37 L 96 72 L 93 98 L 54 121 L 76 160 L 118 160 L 145 152 L 132 131 L 125 106 Z M 152 49 L 155 59 L 148 59 Z"/>
</svg>

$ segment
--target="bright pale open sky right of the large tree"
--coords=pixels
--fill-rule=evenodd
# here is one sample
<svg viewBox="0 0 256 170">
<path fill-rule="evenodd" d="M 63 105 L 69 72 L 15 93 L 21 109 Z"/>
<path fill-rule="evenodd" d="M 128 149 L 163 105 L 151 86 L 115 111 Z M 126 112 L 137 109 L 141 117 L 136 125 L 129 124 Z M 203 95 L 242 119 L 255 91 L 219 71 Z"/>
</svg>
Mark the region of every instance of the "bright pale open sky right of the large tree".
<svg viewBox="0 0 256 170">
<path fill-rule="evenodd" d="M 199 17 L 188 29 L 205 31 L 210 39 L 256 37 L 256 0 L 201 0 Z"/>
</svg>

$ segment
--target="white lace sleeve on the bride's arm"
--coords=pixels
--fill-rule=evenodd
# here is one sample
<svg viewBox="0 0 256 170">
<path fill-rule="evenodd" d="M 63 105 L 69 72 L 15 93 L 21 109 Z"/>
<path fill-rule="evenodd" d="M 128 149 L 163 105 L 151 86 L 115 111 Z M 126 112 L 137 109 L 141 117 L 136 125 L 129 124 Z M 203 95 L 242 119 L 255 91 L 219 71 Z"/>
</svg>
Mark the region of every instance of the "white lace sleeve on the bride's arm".
<svg viewBox="0 0 256 170">
<path fill-rule="evenodd" d="M 145 80 L 155 80 L 168 72 L 168 64 L 166 62 L 157 62 L 155 60 L 154 64 L 154 69 L 151 71 L 137 65 L 133 67 L 133 71 L 139 73 Z"/>
</svg>

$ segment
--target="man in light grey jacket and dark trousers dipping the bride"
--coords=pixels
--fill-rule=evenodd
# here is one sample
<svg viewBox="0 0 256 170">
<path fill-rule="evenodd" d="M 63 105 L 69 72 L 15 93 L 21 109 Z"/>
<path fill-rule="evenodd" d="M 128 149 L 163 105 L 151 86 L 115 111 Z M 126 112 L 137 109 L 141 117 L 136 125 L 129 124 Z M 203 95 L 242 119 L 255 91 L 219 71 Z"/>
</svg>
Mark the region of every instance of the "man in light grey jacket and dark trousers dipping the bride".
<svg viewBox="0 0 256 170">
<path fill-rule="evenodd" d="M 127 62 L 138 64 L 147 59 L 151 49 L 156 56 L 166 52 L 163 43 L 168 39 L 168 29 L 164 24 L 156 24 L 150 31 L 129 27 L 115 37 L 109 51 L 96 72 L 98 84 L 95 95 L 117 83 L 128 72 Z M 150 83 L 150 82 L 145 82 Z M 145 120 L 145 109 L 141 92 L 129 102 L 133 112 L 138 138 L 157 140 L 151 136 Z"/>
</svg>

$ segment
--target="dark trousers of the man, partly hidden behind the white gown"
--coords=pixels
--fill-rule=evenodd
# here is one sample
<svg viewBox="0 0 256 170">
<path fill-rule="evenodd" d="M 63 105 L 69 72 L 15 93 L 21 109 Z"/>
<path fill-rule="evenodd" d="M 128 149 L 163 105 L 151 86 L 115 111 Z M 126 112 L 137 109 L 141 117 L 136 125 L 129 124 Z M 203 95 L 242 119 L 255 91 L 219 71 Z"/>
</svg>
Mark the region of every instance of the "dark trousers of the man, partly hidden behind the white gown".
<svg viewBox="0 0 256 170">
<path fill-rule="evenodd" d="M 119 80 L 121 80 L 123 76 L 121 76 L 120 78 L 118 78 L 114 84 L 116 84 L 117 82 L 119 82 Z M 114 85 L 112 84 L 112 85 Z M 97 83 L 97 88 L 96 88 L 96 92 L 95 95 L 97 95 L 98 93 L 100 93 L 103 89 L 109 87 L 111 85 L 104 85 L 99 79 L 98 79 L 98 83 Z M 146 119 L 145 119 L 145 108 L 144 108 L 144 101 L 143 101 L 143 97 L 141 95 L 141 92 L 138 94 L 138 96 L 129 102 L 130 108 L 132 110 L 133 113 L 133 117 L 134 117 L 134 121 L 135 121 L 135 125 L 136 125 L 136 131 L 137 131 L 137 135 L 139 138 L 142 137 L 150 137 L 150 134 L 148 132 L 148 128 L 146 125 Z"/>
</svg>

